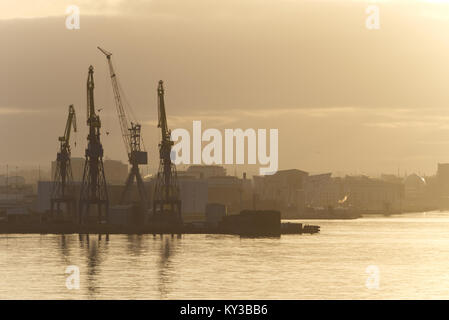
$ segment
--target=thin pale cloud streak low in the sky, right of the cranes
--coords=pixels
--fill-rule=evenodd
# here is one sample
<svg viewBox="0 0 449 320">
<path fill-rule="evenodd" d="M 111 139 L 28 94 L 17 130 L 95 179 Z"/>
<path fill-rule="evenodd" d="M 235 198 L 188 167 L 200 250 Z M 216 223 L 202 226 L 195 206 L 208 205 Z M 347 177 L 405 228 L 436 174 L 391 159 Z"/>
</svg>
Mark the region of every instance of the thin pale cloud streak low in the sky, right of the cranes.
<svg viewBox="0 0 449 320">
<path fill-rule="evenodd" d="M 204 108 L 203 108 L 204 109 Z M 257 123 L 260 120 L 289 121 L 294 119 L 323 119 L 327 121 L 353 121 L 354 125 L 379 129 L 396 130 L 449 130 L 449 111 L 443 108 L 367 108 L 367 107 L 329 107 L 329 108 L 267 108 L 242 110 L 226 108 L 221 111 L 199 111 L 194 114 L 177 114 L 170 117 L 172 127 L 190 127 L 192 121 L 201 120 L 211 127 L 239 125 L 242 122 Z M 156 126 L 156 121 L 145 124 Z"/>
</svg>

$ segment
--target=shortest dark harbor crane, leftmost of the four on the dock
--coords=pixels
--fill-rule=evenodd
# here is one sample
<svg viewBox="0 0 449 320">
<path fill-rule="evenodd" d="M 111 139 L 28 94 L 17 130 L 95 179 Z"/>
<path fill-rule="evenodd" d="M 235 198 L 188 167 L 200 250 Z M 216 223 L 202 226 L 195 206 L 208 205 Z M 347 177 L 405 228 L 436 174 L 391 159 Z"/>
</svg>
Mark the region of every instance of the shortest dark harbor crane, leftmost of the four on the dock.
<svg viewBox="0 0 449 320">
<path fill-rule="evenodd" d="M 61 203 L 65 204 L 69 217 L 73 218 L 76 212 L 76 199 L 73 188 L 72 166 L 70 163 L 70 133 L 76 132 L 76 114 L 73 105 L 69 106 L 69 115 L 64 135 L 59 137 L 59 152 L 56 155 L 56 169 L 53 178 L 50 199 L 50 214 L 53 218 L 54 207 L 60 212 Z"/>
</svg>

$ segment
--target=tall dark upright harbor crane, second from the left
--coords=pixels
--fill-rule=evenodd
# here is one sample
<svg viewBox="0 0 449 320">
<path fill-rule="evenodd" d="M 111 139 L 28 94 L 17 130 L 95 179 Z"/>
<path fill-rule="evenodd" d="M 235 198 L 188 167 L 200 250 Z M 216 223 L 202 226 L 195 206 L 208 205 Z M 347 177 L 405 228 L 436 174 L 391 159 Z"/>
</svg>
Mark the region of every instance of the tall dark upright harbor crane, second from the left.
<svg viewBox="0 0 449 320">
<path fill-rule="evenodd" d="M 94 68 L 89 67 L 87 76 L 87 136 L 86 160 L 80 190 L 79 223 L 85 223 L 91 205 L 97 205 L 98 221 L 107 221 L 109 198 L 103 166 L 103 146 L 100 141 L 100 116 L 95 114 Z M 103 210 L 104 209 L 104 210 Z M 103 215 L 104 213 L 104 215 Z"/>
</svg>

